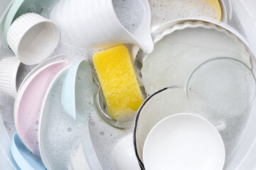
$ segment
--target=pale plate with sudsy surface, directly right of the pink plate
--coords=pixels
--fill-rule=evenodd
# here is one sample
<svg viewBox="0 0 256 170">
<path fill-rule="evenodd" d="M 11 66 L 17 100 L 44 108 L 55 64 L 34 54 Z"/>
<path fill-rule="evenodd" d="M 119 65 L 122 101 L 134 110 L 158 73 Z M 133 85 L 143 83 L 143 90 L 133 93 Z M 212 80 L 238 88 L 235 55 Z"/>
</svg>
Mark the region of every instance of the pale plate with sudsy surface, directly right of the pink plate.
<svg viewBox="0 0 256 170">
<path fill-rule="evenodd" d="M 68 158 L 77 149 L 84 123 L 70 117 L 61 106 L 61 90 L 68 73 L 65 67 L 52 81 L 41 108 L 39 149 L 47 169 L 65 169 Z M 92 103 L 93 106 L 93 103 Z M 87 108 L 84 108 L 85 111 Z M 53 150 L 55 152 L 53 152 Z M 67 160 L 67 162 L 63 162 Z"/>
</svg>

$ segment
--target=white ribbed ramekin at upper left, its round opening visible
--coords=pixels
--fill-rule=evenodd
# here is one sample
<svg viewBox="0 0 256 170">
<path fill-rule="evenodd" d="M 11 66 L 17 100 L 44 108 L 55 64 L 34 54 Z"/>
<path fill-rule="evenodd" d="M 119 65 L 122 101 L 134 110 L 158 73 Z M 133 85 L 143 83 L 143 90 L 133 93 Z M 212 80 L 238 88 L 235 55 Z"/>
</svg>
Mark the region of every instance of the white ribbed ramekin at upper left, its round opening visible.
<svg viewBox="0 0 256 170">
<path fill-rule="evenodd" d="M 58 26 L 37 13 L 19 16 L 7 33 L 7 42 L 18 59 L 27 65 L 38 64 L 55 50 L 60 40 Z"/>
</svg>

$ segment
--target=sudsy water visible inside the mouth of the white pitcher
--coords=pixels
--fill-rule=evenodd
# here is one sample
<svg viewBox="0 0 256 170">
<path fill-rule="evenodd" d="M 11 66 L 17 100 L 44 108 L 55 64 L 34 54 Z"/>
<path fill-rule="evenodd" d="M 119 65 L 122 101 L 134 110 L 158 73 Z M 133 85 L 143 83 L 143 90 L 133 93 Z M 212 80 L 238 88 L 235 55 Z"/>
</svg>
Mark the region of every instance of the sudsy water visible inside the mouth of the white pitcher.
<svg viewBox="0 0 256 170">
<path fill-rule="evenodd" d="M 112 0 L 114 11 L 120 23 L 130 33 L 134 33 L 144 18 L 144 9 L 138 0 Z"/>
</svg>

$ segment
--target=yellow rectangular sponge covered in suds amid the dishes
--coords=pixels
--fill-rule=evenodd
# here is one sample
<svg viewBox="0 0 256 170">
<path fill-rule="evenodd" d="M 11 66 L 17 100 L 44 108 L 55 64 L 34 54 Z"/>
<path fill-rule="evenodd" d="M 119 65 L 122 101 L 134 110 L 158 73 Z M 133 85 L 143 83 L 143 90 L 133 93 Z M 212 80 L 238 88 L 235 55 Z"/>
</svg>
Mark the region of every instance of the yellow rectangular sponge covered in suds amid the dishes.
<svg viewBox="0 0 256 170">
<path fill-rule="evenodd" d="M 137 111 L 144 97 L 127 47 L 119 45 L 97 52 L 92 60 L 110 116 L 124 118 Z"/>
</svg>

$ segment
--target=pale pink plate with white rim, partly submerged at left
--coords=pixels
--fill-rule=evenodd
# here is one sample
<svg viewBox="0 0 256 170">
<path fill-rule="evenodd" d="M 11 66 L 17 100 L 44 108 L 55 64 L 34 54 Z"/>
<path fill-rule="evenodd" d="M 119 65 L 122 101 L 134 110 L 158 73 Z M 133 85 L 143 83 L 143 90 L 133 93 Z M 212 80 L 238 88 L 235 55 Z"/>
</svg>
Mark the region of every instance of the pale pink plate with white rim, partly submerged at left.
<svg viewBox="0 0 256 170">
<path fill-rule="evenodd" d="M 66 65 L 67 62 L 61 61 L 42 67 L 27 79 L 16 98 L 14 108 L 16 129 L 24 145 L 34 153 L 39 153 L 38 121 L 43 98 L 55 75 Z"/>
</svg>

